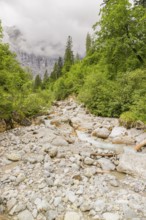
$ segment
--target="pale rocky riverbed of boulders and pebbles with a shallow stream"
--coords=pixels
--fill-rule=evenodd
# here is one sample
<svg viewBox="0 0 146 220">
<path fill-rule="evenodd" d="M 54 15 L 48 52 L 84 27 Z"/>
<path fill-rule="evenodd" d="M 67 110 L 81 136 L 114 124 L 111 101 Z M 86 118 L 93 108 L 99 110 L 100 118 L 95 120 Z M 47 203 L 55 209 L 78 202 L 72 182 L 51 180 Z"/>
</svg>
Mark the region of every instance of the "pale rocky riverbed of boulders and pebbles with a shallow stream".
<svg viewBox="0 0 146 220">
<path fill-rule="evenodd" d="M 144 130 L 73 99 L 40 119 L 0 134 L 0 220 L 146 219 Z"/>
</svg>

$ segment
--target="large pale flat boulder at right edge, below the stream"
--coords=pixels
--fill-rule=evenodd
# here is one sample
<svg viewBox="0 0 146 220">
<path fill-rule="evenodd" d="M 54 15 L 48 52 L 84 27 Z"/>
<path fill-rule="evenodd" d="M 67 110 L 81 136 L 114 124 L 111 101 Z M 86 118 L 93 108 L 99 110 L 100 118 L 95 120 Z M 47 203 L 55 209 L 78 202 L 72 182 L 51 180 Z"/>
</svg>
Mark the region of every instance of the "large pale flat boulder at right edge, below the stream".
<svg viewBox="0 0 146 220">
<path fill-rule="evenodd" d="M 117 170 L 146 179 L 146 154 L 125 150 L 120 157 Z"/>
</svg>

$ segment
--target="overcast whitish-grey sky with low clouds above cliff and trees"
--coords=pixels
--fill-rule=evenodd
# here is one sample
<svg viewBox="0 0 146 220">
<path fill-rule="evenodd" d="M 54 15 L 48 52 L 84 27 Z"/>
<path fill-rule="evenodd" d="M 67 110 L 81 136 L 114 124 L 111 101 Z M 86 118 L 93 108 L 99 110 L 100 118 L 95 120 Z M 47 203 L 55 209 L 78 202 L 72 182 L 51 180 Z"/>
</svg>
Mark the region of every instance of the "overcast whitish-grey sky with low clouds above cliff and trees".
<svg viewBox="0 0 146 220">
<path fill-rule="evenodd" d="M 0 0 L 0 19 L 19 27 L 36 51 L 62 53 L 68 35 L 83 54 L 87 32 L 98 20 L 102 0 Z"/>
</svg>

